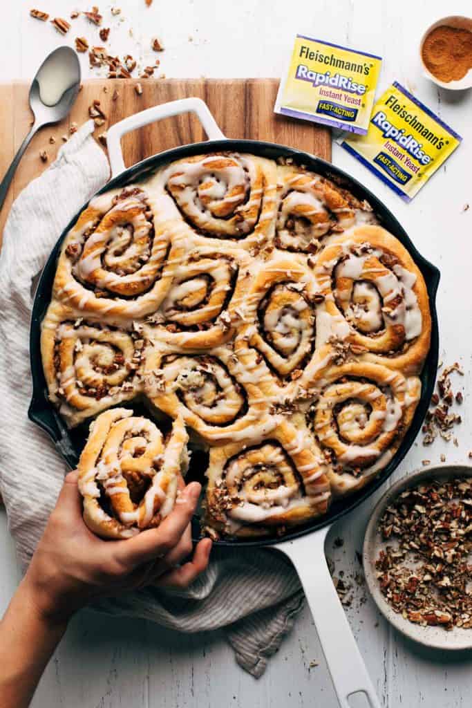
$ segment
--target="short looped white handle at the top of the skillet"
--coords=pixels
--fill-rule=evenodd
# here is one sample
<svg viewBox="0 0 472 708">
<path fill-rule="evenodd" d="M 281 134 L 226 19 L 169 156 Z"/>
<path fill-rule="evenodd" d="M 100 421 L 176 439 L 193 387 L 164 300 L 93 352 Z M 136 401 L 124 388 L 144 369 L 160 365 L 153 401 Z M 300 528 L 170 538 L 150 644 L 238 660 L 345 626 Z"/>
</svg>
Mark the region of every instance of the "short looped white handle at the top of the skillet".
<svg viewBox="0 0 472 708">
<path fill-rule="evenodd" d="M 180 98 L 179 101 L 171 101 L 170 103 L 161 103 L 161 105 L 153 105 L 152 108 L 142 110 L 140 113 L 129 115 L 128 118 L 120 120 L 108 129 L 107 132 L 107 147 L 108 156 L 110 158 L 110 166 L 112 177 L 116 177 L 120 172 L 125 170 L 123 162 L 123 154 L 121 151 L 121 139 L 123 135 L 131 130 L 137 130 L 144 125 L 149 125 L 155 120 L 161 118 L 170 118 L 172 115 L 180 115 L 180 113 L 195 113 L 198 116 L 202 126 L 207 133 L 209 140 L 224 139 L 225 136 L 219 129 L 216 120 L 209 112 L 209 108 L 205 101 L 201 98 Z"/>
</svg>

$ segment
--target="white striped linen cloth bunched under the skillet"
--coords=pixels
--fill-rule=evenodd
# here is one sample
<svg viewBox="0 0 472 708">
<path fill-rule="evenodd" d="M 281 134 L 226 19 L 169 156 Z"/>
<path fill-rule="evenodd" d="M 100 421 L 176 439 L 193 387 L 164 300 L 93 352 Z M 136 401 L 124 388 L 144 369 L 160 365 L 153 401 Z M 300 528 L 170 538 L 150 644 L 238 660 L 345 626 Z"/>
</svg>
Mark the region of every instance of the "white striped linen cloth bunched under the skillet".
<svg viewBox="0 0 472 708">
<path fill-rule="evenodd" d="M 0 254 L 0 493 L 23 565 L 33 554 L 67 472 L 52 442 L 27 415 L 32 278 L 70 219 L 108 181 L 108 161 L 92 131 L 90 121 L 18 196 Z M 187 590 L 147 588 L 95 607 L 182 632 L 224 627 L 238 663 L 258 677 L 303 600 L 297 573 L 281 553 L 215 548 L 209 568 Z"/>
</svg>

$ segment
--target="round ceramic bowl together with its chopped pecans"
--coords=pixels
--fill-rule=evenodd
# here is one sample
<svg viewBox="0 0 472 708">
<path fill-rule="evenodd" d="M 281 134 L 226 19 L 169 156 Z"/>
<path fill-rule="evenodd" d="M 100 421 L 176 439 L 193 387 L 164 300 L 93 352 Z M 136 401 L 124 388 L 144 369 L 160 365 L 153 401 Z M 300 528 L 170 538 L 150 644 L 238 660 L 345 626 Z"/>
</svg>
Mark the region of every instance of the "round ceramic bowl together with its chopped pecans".
<svg viewBox="0 0 472 708">
<path fill-rule="evenodd" d="M 472 649 L 472 467 L 393 484 L 367 525 L 367 586 L 388 622 L 436 649 Z"/>
</svg>

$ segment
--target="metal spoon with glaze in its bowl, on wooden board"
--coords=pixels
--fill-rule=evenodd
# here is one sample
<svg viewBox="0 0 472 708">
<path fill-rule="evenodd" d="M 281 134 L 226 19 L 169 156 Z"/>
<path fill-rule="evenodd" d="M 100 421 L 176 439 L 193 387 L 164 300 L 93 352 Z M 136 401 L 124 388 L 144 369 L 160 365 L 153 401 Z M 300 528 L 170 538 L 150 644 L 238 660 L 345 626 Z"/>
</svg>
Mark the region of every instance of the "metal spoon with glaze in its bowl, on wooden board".
<svg viewBox="0 0 472 708">
<path fill-rule="evenodd" d="M 68 115 L 79 93 L 80 80 L 79 57 L 71 47 L 59 47 L 42 62 L 30 88 L 30 108 L 35 122 L 0 184 L 0 209 L 31 138 L 40 128 L 58 123 Z"/>
</svg>

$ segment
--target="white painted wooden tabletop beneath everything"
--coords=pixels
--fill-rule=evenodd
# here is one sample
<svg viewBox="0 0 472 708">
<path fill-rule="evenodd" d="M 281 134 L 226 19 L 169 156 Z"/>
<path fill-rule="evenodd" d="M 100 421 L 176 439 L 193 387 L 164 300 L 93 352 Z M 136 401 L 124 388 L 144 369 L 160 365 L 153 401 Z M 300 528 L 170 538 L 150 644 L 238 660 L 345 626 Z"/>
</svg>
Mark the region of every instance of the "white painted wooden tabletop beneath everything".
<svg viewBox="0 0 472 708">
<path fill-rule="evenodd" d="M 280 76 L 289 44 L 301 32 L 384 57 L 380 89 L 394 79 L 413 91 L 446 120 L 464 144 L 410 205 L 337 146 L 333 161 L 374 190 L 391 208 L 420 251 L 442 270 L 439 288 L 441 355 L 445 362 L 459 360 L 464 379 L 463 424 L 459 447 L 437 442 L 431 449 L 420 440 L 401 464 L 395 477 L 428 458 L 439 462 L 465 461 L 472 450 L 471 411 L 471 273 L 472 202 L 471 140 L 472 92 L 449 95 L 420 74 L 417 57 L 422 30 L 444 13 L 471 12 L 469 0 L 454 7 L 439 0 L 116 0 L 124 22 L 109 22 L 110 1 L 96 0 L 112 27 L 110 44 L 116 53 L 139 55 L 152 35 L 161 35 L 166 50 L 160 55 L 167 76 Z M 36 6 L 67 18 L 77 9 L 89 9 L 74 0 L 17 0 L 2 3 L 0 81 L 29 79 L 45 53 L 64 43 L 52 26 L 29 18 Z M 88 37 L 98 30 L 76 21 L 74 33 Z M 130 36 L 129 28 L 132 27 Z M 76 28 L 76 31 L 75 31 Z M 86 30 L 86 32 L 84 31 Z M 139 47 L 142 49 L 140 50 Z M 155 58 L 156 55 L 154 55 Z M 144 57 L 145 60 L 145 57 Z M 83 58 L 84 76 L 88 62 Z M 309 130 L 309 127 L 307 127 Z M 379 495 L 376 496 L 378 498 Z M 328 549 L 336 572 L 355 573 L 356 549 L 362 547 L 364 526 L 375 498 L 338 524 L 333 533 L 345 539 L 343 547 Z M 13 544 L 0 513 L 0 612 L 18 582 Z M 402 639 L 379 617 L 365 590 L 355 591 L 347 610 L 353 632 L 385 707 L 459 708 L 470 705 L 471 655 L 447 656 L 425 651 Z M 319 666 L 310 668 L 311 661 Z M 267 672 L 256 681 L 234 661 L 223 636 L 184 636 L 147 622 L 108 619 L 81 612 L 54 655 L 33 701 L 34 708 L 336 708 L 326 663 L 304 610 L 292 634 L 272 658 Z"/>
</svg>

